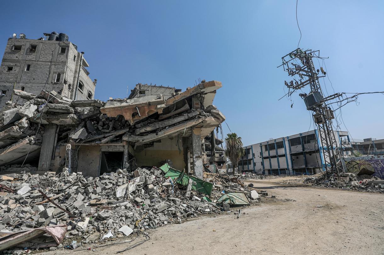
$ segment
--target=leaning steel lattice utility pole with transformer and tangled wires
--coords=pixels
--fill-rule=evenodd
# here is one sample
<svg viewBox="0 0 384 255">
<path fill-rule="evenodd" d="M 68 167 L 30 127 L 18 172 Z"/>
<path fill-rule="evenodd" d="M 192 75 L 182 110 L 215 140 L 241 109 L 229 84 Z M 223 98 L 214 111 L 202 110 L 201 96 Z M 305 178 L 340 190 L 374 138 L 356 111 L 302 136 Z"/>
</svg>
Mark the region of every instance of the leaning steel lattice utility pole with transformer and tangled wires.
<svg viewBox="0 0 384 255">
<path fill-rule="evenodd" d="M 332 128 L 334 114 L 326 104 L 327 101 L 338 98 L 341 94 L 336 93 L 324 96 L 319 78 L 325 77 L 326 72 L 324 72 L 323 67 L 320 68 L 321 70 L 315 69 L 312 61 L 313 58 L 321 58 L 319 51 L 312 51 L 310 49 L 304 51 L 300 48 L 281 58 L 283 63 L 280 66 L 283 66 L 288 75 L 293 77 L 293 80 L 290 82 L 285 81 L 285 85 L 288 88 L 287 95 L 291 96 L 296 90 L 301 90 L 309 85 L 309 94 L 302 92 L 299 96 L 304 100 L 307 110 L 313 112 L 314 121 L 318 125 L 326 172 L 331 174 L 343 173 L 343 164 L 337 164 L 337 159 L 341 159 L 341 152 Z M 318 76 L 320 71 L 323 76 Z"/>
</svg>

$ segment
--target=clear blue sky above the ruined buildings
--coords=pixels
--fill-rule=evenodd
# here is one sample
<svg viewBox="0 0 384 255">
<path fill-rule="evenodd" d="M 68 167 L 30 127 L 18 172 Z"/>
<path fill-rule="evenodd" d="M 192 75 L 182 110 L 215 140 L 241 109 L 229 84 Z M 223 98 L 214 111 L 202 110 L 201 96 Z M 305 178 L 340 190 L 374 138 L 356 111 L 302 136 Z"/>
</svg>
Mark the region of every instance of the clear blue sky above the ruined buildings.
<svg viewBox="0 0 384 255">
<path fill-rule="evenodd" d="M 0 54 L 13 33 L 66 33 L 85 52 L 101 100 L 124 98 L 139 82 L 185 90 L 198 78 L 218 80 L 214 104 L 249 145 L 310 128 L 297 94 L 293 108 L 286 98 L 278 101 L 289 78 L 276 67 L 300 38 L 295 9 L 295 0 L 3 1 Z M 300 47 L 329 57 L 335 92 L 384 90 L 383 13 L 383 1 L 298 1 Z M 321 84 L 333 94 L 328 79 Z M 351 136 L 384 138 L 384 96 L 361 95 L 358 102 L 343 107 Z"/>
</svg>

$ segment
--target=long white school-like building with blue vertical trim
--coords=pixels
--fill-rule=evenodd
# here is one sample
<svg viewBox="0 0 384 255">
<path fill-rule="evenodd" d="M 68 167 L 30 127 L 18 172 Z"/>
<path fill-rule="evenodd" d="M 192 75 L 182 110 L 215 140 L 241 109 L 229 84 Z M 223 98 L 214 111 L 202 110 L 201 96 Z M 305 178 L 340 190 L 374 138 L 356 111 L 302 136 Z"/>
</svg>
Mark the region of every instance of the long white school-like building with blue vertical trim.
<svg viewBox="0 0 384 255">
<path fill-rule="evenodd" d="M 348 132 L 335 131 L 337 146 L 351 150 Z M 325 170 L 323 148 L 318 130 L 270 139 L 244 147 L 245 155 L 239 161 L 238 171 L 252 171 L 266 175 L 315 174 Z"/>
</svg>

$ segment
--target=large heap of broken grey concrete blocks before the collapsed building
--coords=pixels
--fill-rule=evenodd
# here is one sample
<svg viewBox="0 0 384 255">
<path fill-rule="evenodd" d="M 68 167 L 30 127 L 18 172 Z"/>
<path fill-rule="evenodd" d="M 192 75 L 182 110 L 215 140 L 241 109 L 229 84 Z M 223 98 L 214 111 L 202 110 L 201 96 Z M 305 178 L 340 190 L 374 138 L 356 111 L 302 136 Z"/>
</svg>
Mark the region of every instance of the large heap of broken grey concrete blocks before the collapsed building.
<svg viewBox="0 0 384 255">
<path fill-rule="evenodd" d="M 97 178 L 68 172 L 3 175 L 0 229 L 16 232 L 64 225 L 67 238 L 99 242 L 106 235 L 118 237 L 218 213 L 221 208 L 215 202 L 225 192 L 247 193 L 250 200 L 258 201 L 235 177 L 205 174 L 214 183 L 211 196 L 194 190 L 186 196 L 184 188 L 156 167 L 132 173 L 119 169 Z"/>
</svg>

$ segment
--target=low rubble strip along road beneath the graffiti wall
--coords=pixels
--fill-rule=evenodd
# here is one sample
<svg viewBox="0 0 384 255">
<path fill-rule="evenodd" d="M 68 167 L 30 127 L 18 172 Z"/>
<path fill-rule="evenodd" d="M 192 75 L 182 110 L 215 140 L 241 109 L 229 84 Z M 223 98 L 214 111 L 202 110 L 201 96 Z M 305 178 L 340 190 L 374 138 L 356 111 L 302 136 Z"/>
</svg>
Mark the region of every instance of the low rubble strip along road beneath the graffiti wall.
<svg viewBox="0 0 384 255">
<path fill-rule="evenodd" d="M 326 173 L 318 173 L 305 178 L 304 183 L 326 188 L 384 193 L 384 180 L 367 174 L 342 173 L 340 175 L 327 175 Z"/>
</svg>

